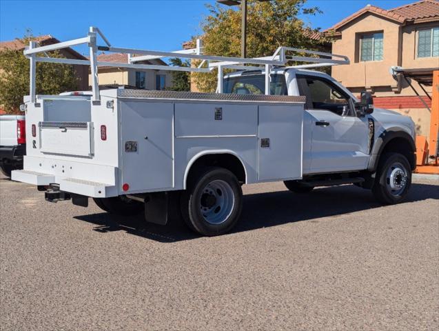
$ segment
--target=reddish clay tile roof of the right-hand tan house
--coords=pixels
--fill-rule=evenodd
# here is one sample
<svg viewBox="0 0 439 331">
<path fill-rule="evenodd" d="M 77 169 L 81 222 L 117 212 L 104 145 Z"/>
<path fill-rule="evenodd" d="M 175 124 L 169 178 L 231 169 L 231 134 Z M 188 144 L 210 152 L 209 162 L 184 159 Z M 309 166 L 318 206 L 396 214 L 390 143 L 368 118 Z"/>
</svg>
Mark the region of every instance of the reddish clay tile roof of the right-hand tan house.
<svg viewBox="0 0 439 331">
<path fill-rule="evenodd" d="M 391 19 L 398 23 L 405 23 L 406 21 L 416 21 L 418 19 L 438 19 L 439 20 L 439 1 L 438 0 L 422 0 L 414 3 L 409 3 L 405 6 L 385 10 L 376 6 L 367 5 L 364 8 L 354 12 L 342 21 L 336 23 L 331 28 L 325 31 L 337 30 L 346 23 L 353 21 L 366 12 L 377 14 L 381 17 Z"/>
</svg>

